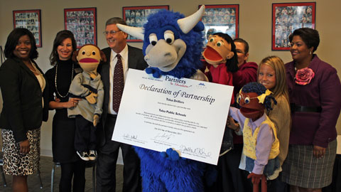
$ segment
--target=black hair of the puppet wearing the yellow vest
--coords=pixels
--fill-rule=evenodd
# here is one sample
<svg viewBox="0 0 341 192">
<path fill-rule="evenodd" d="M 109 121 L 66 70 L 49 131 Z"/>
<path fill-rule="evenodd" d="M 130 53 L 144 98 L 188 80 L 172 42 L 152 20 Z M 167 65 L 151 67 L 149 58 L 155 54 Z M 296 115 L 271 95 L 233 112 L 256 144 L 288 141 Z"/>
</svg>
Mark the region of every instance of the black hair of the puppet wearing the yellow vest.
<svg viewBox="0 0 341 192">
<path fill-rule="evenodd" d="M 266 87 L 264 87 L 264 85 L 261 85 L 261 83 L 259 82 L 249 82 L 247 83 L 247 85 L 244 85 L 244 87 L 242 87 L 242 92 L 256 92 L 257 95 L 262 95 L 264 93 L 266 93 Z M 274 100 L 274 104 L 277 104 L 277 101 L 275 100 L 275 98 L 271 95 L 268 95 L 265 97 L 264 100 L 264 107 L 266 107 L 266 110 L 272 110 L 271 107 L 271 100 Z"/>
</svg>

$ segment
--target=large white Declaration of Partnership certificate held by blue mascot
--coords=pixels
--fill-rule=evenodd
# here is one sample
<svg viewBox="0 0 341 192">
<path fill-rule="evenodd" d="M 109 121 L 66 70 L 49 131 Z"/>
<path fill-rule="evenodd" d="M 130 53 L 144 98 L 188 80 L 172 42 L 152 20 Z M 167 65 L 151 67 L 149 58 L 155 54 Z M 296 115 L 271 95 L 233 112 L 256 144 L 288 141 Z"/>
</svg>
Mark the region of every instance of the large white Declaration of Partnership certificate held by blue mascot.
<svg viewBox="0 0 341 192">
<path fill-rule="evenodd" d="M 129 69 L 112 140 L 217 164 L 233 87 Z"/>
</svg>

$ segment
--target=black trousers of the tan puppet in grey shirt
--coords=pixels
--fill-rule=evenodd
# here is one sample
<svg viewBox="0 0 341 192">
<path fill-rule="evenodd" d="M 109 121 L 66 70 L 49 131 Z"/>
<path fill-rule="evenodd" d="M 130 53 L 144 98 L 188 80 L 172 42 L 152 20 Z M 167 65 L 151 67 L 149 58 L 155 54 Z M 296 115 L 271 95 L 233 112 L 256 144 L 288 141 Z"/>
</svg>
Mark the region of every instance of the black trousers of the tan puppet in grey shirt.
<svg viewBox="0 0 341 192">
<path fill-rule="evenodd" d="M 81 115 L 76 117 L 75 149 L 76 151 L 96 150 L 96 127 Z"/>
</svg>

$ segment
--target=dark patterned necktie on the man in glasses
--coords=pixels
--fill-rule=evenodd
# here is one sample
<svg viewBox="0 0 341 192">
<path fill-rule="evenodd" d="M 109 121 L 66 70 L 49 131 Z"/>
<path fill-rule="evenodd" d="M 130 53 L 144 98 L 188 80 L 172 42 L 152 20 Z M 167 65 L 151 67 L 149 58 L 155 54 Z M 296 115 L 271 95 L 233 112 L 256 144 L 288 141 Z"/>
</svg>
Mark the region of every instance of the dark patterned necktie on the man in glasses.
<svg viewBox="0 0 341 192">
<path fill-rule="evenodd" d="M 112 82 L 112 109 L 119 112 L 119 104 L 124 88 L 124 75 L 121 55 L 117 54 L 117 63 L 114 68 L 114 80 Z"/>
</svg>

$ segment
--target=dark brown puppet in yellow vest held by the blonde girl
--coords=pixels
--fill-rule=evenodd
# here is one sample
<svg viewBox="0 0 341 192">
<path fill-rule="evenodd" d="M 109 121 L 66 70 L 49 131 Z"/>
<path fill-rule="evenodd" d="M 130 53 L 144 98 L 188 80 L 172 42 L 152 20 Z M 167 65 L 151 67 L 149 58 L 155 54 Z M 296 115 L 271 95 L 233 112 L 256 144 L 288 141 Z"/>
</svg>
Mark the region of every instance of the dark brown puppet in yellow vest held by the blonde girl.
<svg viewBox="0 0 341 192">
<path fill-rule="evenodd" d="M 272 110 L 272 92 L 258 82 L 249 82 L 242 87 L 237 95 L 240 110 L 230 107 L 229 115 L 240 124 L 235 130 L 243 134 L 245 156 L 244 167 L 249 171 L 247 178 L 251 178 L 254 191 L 258 191 L 261 181 L 261 191 L 266 191 L 266 176 L 274 174 L 279 165 L 279 142 L 276 127 L 264 112 L 265 109 Z M 241 160 L 243 162 L 243 159 Z"/>
</svg>

